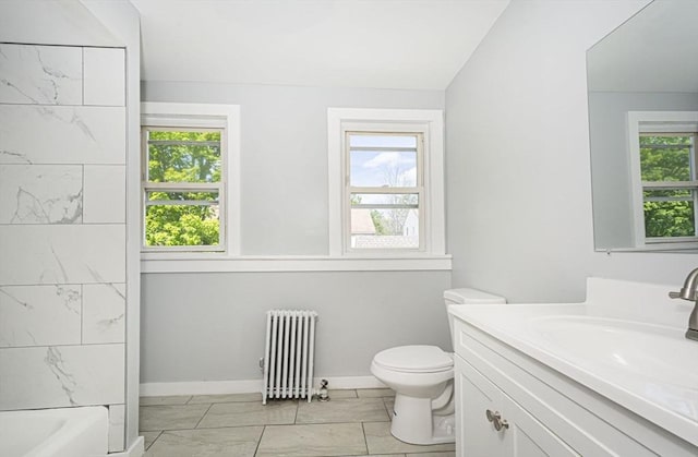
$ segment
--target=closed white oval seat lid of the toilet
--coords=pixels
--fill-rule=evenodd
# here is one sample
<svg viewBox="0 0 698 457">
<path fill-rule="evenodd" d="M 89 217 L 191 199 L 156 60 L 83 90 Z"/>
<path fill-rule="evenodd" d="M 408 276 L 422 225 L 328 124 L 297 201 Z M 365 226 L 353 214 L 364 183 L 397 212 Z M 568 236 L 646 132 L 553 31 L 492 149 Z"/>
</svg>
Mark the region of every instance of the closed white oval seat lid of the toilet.
<svg viewBox="0 0 698 457">
<path fill-rule="evenodd" d="M 453 357 L 436 346 L 399 346 L 375 354 L 373 362 L 400 373 L 438 373 L 454 368 Z"/>
</svg>

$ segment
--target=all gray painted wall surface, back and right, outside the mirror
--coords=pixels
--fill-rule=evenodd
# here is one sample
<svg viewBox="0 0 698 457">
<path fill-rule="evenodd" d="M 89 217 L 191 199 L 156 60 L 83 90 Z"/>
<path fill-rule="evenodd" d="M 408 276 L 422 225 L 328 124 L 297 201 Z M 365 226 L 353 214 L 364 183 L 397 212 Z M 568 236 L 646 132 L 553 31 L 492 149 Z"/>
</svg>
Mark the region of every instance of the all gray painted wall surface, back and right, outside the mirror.
<svg viewBox="0 0 698 457">
<path fill-rule="evenodd" d="M 255 378 L 263 312 L 284 303 L 321 312 L 318 375 L 366 375 L 384 347 L 449 346 L 441 292 L 452 284 L 528 302 L 582 300 L 590 275 L 679 284 L 697 256 L 593 251 L 585 53 L 645 3 L 515 1 L 445 101 L 441 92 L 144 83 L 147 101 L 241 105 L 250 255 L 327 253 L 327 107 L 445 103 L 454 272 L 144 275 L 142 381 Z"/>
</svg>

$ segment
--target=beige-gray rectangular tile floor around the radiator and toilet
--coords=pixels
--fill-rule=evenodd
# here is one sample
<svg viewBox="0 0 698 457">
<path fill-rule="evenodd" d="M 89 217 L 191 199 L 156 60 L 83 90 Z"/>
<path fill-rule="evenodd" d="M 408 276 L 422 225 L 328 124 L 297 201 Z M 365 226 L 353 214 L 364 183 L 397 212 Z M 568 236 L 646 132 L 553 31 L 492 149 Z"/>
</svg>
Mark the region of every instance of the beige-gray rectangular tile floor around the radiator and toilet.
<svg viewBox="0 0 698 457">
<path fill-rule="evenodd" d="M 141 398 L 146 457 L 454 457 L 454 445 L 390 435 L 389 389 L 330 390 L 330 401 L 261 394 Z"/>
</svg>

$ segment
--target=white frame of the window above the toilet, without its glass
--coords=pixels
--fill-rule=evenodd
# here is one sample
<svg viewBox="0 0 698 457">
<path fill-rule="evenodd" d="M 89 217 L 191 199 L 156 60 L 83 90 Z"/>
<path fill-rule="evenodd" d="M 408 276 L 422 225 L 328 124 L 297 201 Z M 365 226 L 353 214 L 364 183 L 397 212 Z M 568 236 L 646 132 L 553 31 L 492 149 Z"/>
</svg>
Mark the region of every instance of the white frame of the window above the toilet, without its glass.
<svg viewBox="0 0 698 457">
<path fill-rule="evenodd" d="M 423 199 L 419 208 L 419 249 L 350 249 L 347 132 L 422 135 Z M 445 255 L 443 110 L 328 108 L 327 133 L 330 256 L 413 258 Z"/>
</svg>

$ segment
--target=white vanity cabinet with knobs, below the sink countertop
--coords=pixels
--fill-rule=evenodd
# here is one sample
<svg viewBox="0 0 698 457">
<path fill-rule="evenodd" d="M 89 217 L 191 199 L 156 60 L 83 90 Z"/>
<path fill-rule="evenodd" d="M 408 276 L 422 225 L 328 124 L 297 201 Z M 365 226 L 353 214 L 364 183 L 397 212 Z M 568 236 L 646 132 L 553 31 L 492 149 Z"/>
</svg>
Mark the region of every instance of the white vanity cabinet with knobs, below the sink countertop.
<svg viewBox="0 0 698 457">
<path fill-rule="evenodd" d="M 697 455 L 689 443 L 458 316 L 454 333 L 458 457 Z"/>
</svg>

